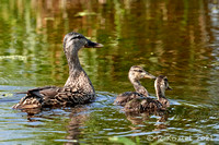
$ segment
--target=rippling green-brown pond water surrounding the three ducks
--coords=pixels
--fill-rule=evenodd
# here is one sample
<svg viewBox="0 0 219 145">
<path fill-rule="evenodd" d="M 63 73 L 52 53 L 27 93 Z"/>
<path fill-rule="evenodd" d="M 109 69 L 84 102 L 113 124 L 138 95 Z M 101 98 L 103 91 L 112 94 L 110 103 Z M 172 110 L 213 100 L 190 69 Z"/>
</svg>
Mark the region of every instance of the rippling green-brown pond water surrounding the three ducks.
<svg viewBox="0 0 219 145">
<path fill-rule="evenodd" d="M 1 144 L 216 144 L 219 141 L 219 2 L 0 1 Z M 28 88 L 62 86 L 64 36 L 76 31 L 104 45 L 79 57 L 95 102 L 35 116 L 12 110 Z M 132 90 L 139 64 L 169 77 L 165 114 L 126 114 L 115 97 Z M 141 81 L 154 97 L 153 81 Z"/>
</svg>

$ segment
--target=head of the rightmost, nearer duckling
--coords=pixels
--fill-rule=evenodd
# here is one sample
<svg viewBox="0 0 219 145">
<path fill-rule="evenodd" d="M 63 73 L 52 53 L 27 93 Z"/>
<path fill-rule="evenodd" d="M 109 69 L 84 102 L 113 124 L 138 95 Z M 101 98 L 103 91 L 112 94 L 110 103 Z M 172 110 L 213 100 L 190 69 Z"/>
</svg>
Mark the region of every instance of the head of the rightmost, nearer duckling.
<svg viewBox="0 0 219 145">
<path fill-rule="evenodd" d="M 172 90 L 169 86 L 168 77 L 164 75 L 159 75 L 155 80 L 155 88 L 160 87 L 161 92 L 164 93 L 165 90 Z"/>
</svg>

